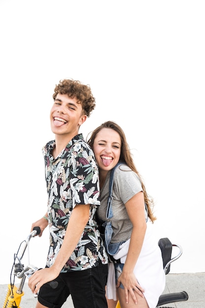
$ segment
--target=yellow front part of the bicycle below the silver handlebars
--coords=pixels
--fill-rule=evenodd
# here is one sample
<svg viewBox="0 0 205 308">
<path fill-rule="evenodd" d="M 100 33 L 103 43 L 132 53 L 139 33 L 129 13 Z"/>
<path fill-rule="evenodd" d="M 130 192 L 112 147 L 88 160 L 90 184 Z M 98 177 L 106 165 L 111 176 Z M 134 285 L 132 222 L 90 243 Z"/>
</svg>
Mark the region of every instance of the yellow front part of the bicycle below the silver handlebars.
<svg viewBox="0 0 205 308">
<path fill-rule="evenodd" d="M 8 284 L 8 289 L 3 303 L 3 308 L 12 308 L 14 304 L 15 307 L 21 308 L 19 305 L 21 302 L 21 297 L 23 295 L 24 292 L 22 291 L 22 293 L 19 294 L 18 288 L 15 285 Z"/>
</svg>

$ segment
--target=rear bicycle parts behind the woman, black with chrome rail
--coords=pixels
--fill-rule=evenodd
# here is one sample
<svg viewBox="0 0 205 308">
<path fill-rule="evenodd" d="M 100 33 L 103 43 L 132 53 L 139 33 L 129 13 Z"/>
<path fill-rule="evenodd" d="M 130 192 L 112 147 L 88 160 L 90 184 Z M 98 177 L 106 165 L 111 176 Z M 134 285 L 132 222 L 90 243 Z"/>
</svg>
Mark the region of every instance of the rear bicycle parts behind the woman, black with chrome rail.
<svg viewBox="0 0 205 308">
<path fill-rule="evenodd" d="M 172 244 L 168 238 L 160 239 L 158 245 L 162 252 L 163 267 L 165 274 L 167 275 L 170 272 L 171 263 L 176 261 L 181 256 L 183 250 L 180 245 Z M 175 257 L 172 258 L 173 247 L 178 248 L 178 253 L 176 254 Z M 176 302 L 184 302 L 187 300 L 188 300 L 188 294 L 186 291 L 162 294 L 159 297 L 159 301 L 156 308 L 160 308 L 160 306 L 162 305 L 168 305 Z M 117 302 L 116 308 L 120 308 L 119 301 Z M 164 308 L 172 308 L 172 307 L 164 307 Z"/>
</svg>

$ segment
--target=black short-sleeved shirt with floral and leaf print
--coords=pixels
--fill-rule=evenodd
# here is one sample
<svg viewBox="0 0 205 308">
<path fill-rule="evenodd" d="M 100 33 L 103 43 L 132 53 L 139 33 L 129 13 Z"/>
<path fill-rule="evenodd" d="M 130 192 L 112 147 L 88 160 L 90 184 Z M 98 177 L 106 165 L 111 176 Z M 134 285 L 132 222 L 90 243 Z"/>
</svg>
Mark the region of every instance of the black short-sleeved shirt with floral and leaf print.
<svg viewBox="0 0 205 308">
<path fill-rule="evenodd" d="M 50 141 L 42 150 L 50 232 L 47 266 L 50 267 L 55 261 L 72 210 L 77 204 L 90 204 L 89 220 L 61 273 L 106 264 L 108 257 L 94 219 L 95 211 L 100 205 L 99 175 L 94 154 L 82 134 L 75 136 L 56 159 L 52 156 L 54 148 L 55 141 Z"/>
</svg>

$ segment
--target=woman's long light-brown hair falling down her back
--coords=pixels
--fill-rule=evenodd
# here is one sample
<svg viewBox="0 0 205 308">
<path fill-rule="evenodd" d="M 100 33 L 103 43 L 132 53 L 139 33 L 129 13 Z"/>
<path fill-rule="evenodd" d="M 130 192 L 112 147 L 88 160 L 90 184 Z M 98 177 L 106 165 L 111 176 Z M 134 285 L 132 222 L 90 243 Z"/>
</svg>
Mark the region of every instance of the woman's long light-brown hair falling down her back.
<svg viewBox="0 0 205 308">
<path fill-rule="evenodd" d="M 153 199 L 147 194 L 143 180 L 142 180 L 139 172 L 137 171 L 137 169 L 135 167 L 135 164 L 134 164 L 134 161 L 133 161 L 133 158 L 132 158 L 132 154 L 130 152 L 129 145 L 127 143 L 127 140 L 126 140 L 126 137 L 125 137 L 125 134 L 124 134 L 124 131 L 122 130 L 122 128 L 117 123 L 115 123 L 113 121 L 107 121 L 105 123 L 102 123 L 100 126 L 98 126 L 97 128 L 95 128 L 92 131 L 91 136 L 88 139 L 89 146 L 93 149 L 93 143 L 94 143 L 94 140 L 96 138 L 96 135 L 103 128 L 111 128 L 119 134 L 120 139 L 121 139 L 121 149 L 120 149 L 119 161 L 125 162 L 125 164 L 138 175 L 138 177 L 141 181 L 143 192 L 144 192 L 144 199 L 145 199 L 145 203 L 146 203 L 146 206 L 147 206 L 148 217 L 152 222 L 154 222 L 154 220 L 156 220 L 156 217 L 153 215 L 153 212 L 152 212 L 152 209 L 153 209 L 153 206 L 154 206 Z"/>
</svg>

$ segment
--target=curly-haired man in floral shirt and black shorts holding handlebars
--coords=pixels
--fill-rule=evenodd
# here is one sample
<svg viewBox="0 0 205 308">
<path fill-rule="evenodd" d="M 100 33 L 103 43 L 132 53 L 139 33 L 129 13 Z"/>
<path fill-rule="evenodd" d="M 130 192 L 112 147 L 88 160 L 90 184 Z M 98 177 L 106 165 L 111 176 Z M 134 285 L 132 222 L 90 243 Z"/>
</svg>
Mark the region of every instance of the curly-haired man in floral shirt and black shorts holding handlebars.
<svg viewBox="0 0 205 308">
<path fill-rule="evenodd" d="M 95 107 L 90 87 L 61 80 L 50 113 L 55 140 L 43 148 L 48 210 L 32 224 L 49 225 L 50 248 L 45 269 L 29 278 L 38 293 L 36 308 L 60 308 L 69 295 L 76 308 L 107 308 L 105 285 L 108 257 L 94 220 L 99 177 L 94 154 L 79 127 Z M 46 282 L 55 279 L 58 288 Z"/>
</svg>

